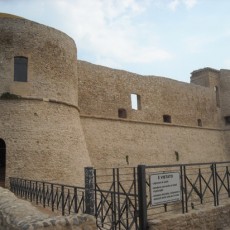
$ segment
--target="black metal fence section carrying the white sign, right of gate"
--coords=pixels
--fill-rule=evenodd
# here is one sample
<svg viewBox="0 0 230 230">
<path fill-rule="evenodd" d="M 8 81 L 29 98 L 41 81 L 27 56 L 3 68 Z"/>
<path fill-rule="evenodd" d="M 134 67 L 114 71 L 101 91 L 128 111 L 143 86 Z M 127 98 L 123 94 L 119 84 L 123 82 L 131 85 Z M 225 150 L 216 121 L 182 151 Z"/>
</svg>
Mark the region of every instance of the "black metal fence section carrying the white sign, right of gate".
<svg viewBox="0 0 230 230">
<path fill-rule="evenodd" d="M 148 221 L 163 217 L 165 213 L 187 213 L 205 206 L 218 206 L 230 198 L 230 162 L 141 165 L 138 168 L 142 171 L 139 177 L 143 178 L 142 188 L 139 190 L 139 199 L 142 199 L 140 206 L 144 206 L 144 208 L 140 207 L 143 212 L 140 220 L 143 225 L 140 229 L 147 227 Z M 156 178 L 158 175 L 174 174 L 179 175 L 178 197 L 180 199 L 177 201 L 170 200 L 175 191 L 169 179 L 163 180 L 166 186 L 158 187 L 156 185 L 158 182 L 154 185 L 150 180 L 151 177 Z M 151 189 L 155 193 L 151 192 Z M 155 196 L 154 198 L 161 202 L 154 204 L 151 196 Z"/>
</svg>

